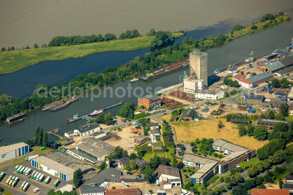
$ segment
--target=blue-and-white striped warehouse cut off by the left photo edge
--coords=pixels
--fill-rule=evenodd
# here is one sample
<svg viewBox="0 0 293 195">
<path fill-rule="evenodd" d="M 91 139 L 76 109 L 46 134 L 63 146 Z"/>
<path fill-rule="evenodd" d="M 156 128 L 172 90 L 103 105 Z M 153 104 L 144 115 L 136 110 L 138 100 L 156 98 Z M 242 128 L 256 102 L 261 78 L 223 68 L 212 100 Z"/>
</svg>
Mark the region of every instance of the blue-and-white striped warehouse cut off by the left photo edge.
<svg viewBox="0 0 293 195">
<path fill-rule="evenodd" d="M 29 153 L 29 146 L 26 143 L 16 143 L 9 146 L 0 147 L 0 163 L 3 163 L 7 160 L 22 156 Z"/>
</svg>

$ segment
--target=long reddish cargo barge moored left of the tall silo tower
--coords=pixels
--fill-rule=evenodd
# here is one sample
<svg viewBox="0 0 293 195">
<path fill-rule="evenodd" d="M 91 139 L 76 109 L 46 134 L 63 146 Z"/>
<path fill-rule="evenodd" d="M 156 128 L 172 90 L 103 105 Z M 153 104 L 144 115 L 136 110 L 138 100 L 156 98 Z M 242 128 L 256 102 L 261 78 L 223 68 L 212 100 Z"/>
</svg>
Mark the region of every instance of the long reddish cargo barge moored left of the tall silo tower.
<svg viewBox="0 0 293 195">
<path fill-rule="evenodd" d="M 144 81 L 150 81 L 150 80 L 152 80 L 154 78 L 163 76 L 163 75 L 171 73 L 171 72 L 178 71 L 180 69 L 184 69 L 184 68 L 186 68 L 188 66 L 189 66 L 189 60 L 181 61 L 181 62 L 178 62 L 176 64 L 166 66 L 163 69 L 160 69 L 160 70 L 155 71 L 153 73 L 146 74 L 144 77 L 142 77 L 140 79 L 144 80 Z"/>
</svg>

